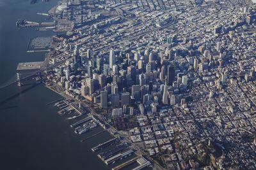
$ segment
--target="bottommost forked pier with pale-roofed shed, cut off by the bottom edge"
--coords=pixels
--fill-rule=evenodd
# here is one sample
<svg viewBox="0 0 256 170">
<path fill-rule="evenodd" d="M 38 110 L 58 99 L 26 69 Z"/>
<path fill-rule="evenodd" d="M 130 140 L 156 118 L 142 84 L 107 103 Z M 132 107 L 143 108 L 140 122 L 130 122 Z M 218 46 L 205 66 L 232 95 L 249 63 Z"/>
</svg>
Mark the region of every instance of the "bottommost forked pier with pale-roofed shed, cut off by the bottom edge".
<svg viewBox="0 0 256 170">
<path fill-rule="evenodd" d="M 138 162 L 138 164 L 140 164 L 140 166 L 137 166 L 132 170 L 140 170 L 140 169 L 143 169 L 143 168 L 151 165 L 150 162 L 148 162 L 148 160 L 146 160 L 142 156 L 138 156 L 131 160 L 128 160 L 127 162 L 124 162 L 124 164 L 120 164 L 119 166 L 113 167 L 112 170 L 122 169 L 122 168 L 127 167 L 130 164 L 134 163 L 135 161 Z"/>
</svg>

